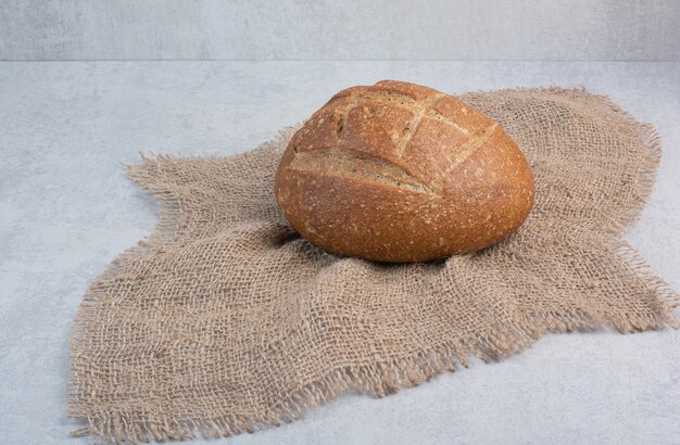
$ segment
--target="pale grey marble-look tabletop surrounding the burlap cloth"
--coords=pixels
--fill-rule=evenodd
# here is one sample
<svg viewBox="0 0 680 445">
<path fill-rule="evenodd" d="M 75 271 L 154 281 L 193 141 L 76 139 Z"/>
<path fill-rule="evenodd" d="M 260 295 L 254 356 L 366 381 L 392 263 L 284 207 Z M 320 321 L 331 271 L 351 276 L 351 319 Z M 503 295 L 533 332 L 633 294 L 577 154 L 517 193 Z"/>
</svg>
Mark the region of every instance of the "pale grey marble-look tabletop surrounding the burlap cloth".
<svg viewBox="0 0 680 445">
<path fill-rule="evenodd" d="M 662 166 L 627 238 L 680 290 L 680 63 L 4 62 L 0 443 L 87 443 L 68 437 L 65 416 L 71 323 L 88 283 L 158 220 L 123 164 L 140 150 L 244 151 L 337 90 L 383 78 L 453 93 L 580 84 L 653 123 Z M 227 442 L 678 444 L 679 345 L 675 330 L 549 334 L 505 361 L 383 399 L 348 394 Z"/>
</svg>

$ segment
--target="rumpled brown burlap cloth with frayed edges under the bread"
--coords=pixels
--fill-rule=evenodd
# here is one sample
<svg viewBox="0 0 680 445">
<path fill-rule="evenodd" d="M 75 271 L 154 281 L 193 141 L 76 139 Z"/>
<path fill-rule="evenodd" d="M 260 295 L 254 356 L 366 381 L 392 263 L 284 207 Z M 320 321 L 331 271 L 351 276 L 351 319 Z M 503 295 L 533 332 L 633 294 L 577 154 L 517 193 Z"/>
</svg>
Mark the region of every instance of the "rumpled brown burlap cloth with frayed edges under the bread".
<svg viewBox="0 0 680 445">
<path fill-rule="evenodd" d="M 354 389 L 385 396 L 546 331 L 678 327 L 678 295 L 624 240 L 659 163 L 654 129 L 582 89 L 468 93 L 517 141 L 537 202 L 511 239 L 388 265 L 286 223 L 273 175 L 294 131 L 229 157 L 155 156 L 130 176 L 158 230 L 92 284 L 72 333 L 70 415 L 103 441 L 227 436 Z"/>
</svg>

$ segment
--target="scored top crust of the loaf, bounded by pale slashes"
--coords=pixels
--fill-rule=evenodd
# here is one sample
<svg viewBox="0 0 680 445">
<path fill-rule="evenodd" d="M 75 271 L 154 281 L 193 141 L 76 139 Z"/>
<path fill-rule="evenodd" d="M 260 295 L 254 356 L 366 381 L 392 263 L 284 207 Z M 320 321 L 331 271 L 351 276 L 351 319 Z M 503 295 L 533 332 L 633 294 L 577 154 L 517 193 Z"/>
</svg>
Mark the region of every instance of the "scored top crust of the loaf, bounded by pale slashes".
<svg viewBox="0 0 680 445">
<path fill-rule="evenodd" d="M 496 130 L 453 96 L 383 80 L 333 96 L 291 140 L 289 168 L 338 171 L 441 196 L 451 171 Z"/>
</svg>

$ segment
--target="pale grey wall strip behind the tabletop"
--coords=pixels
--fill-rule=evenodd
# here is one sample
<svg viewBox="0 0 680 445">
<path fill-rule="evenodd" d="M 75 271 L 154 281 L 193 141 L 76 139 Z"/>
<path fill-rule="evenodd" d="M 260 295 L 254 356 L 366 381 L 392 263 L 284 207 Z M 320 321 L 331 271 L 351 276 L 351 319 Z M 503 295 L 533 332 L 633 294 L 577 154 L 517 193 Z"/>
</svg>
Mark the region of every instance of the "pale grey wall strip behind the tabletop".
<svg viewBox="0 0 680 445">
<path fill-rule="evenodd" d="M 0 60 L 680 60 L 678 0 L 2 0 Z"/>
</svg>

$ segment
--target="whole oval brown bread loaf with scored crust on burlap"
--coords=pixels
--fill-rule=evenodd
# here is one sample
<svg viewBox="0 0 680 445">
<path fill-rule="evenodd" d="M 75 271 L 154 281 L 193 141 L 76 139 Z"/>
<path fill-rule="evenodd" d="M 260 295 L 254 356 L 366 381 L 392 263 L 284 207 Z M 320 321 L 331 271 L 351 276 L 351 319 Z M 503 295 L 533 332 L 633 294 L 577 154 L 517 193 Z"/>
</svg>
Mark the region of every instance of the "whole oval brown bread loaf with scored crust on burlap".
<svg viewBox="0 0 680 445">
<path fill-rule="evenodd" d="M 419 262 L 490 246 L 533 205 L 498 124 L 456 97 L 383 80 L 333 96 L 291 138 L 275 179 L 295 230 L 328 251 Z"/>
</svg>

